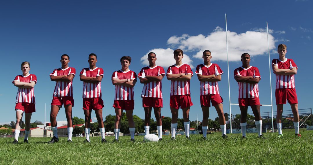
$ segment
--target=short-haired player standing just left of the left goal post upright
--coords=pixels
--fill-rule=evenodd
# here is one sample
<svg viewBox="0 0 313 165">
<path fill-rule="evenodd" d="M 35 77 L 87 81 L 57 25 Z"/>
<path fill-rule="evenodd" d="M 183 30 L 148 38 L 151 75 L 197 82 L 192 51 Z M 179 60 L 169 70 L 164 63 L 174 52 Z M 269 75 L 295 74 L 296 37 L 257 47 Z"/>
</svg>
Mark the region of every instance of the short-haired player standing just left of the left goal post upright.
<svg viewBox="0 0 313 165">
<path fill-rule="evenodd" d="M 218 81 L 221 81 L 223 71 L 218 64 L 211 63 L 211 51 L 205 50 L 202 55 L 203 64 L 197 66 L 196 74 L 200 81 L 200 104 L 203 113 L 202 132 L 203 138 L 207 137 L 210 102 L 215 107 L 219 117 L 222 137 L 227 138 L 226 122 L 223 112 L 223 99 L 219 95 Z"/>
</svg>

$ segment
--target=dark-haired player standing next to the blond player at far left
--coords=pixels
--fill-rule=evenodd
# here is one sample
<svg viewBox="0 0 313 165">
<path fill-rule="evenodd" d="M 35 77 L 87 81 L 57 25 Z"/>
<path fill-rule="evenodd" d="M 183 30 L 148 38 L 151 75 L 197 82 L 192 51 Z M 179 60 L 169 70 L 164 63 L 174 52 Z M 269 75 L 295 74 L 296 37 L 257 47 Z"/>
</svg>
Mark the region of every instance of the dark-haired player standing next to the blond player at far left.
<svg viewBox="0 0 313 165">
<path fill-rule="evenodd" d="M 59 141 L 56 117 L 59 110 L 64 104 L 65 115 L 67 119 L 67 132 L 69 135 L 68 142 L 72 142 L 73 123 L 72 123 L 72 107 L 74 107 L 73 99 L 73 78 L 75 76 L 75 68 L 69 67 L 69 55 L 61 56 L 61 65 L 59 69 L 54 69 L 50 74 L 51 81 L 55 81 L 53 99 L 51 103 L 50 122 L 53 131 L 53 138 L 48 143 Z"/>
</svg>

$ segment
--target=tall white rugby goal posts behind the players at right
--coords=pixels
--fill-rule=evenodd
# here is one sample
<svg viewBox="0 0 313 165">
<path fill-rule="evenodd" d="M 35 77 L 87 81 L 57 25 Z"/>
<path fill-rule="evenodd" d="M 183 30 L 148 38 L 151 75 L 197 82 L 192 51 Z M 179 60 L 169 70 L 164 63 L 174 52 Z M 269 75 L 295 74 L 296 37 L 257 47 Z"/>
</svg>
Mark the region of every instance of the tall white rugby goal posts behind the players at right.
<svg viewBox="0 0 313 165">
<path fill-rule="evenodd" d="M 230 83 L 229 83 L 229 61 L 228 61 L 228 39 L 227 39 L 227 17 L 225 13 L 225 24 L 226 24 L 226 52 L 227 52 L 227 70 L 228 70 L 228 94 L 229 94 L 229 116 L 230 116 L 230 133 L 232 133 L 232 110 L 231 106 L 232 105 L 239 105 L 236 103 L 231 103 L 230 101 Z M 268 30 L 268 25 L 266 22 L 266 29 L 267 29 L 267 47 L 268 47 L 268 53 L 269 53 L 269 30 Z M 271 104 L 266 105 L 262 104 L 261 106 L 269 106 L 272 109 L 272 132 L 274 133 L 274 120 L 273 120 L 273 101 L 272 101 L 272 79 L 271 79 L 271 63 L 270 63 L 270 57 L 269 57 L 269 83 L 270 83 L 270 93 L 271 93 Z"/>
</svg>

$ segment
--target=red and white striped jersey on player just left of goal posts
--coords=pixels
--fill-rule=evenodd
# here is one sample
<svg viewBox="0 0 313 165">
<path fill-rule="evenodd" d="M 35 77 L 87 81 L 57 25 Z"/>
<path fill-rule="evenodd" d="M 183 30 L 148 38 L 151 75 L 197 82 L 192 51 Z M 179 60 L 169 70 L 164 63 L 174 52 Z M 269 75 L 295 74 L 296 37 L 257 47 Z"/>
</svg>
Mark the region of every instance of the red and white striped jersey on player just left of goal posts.
<svg viewBox="0 0 313 165">
<path fill-rule="evenodd" d="M 198 65 L 195 73 L 203 76 L 210 76 L 213 74 L 217 76 L 223 74 L 223 71 L 218 64 L 211 63 L 208 67 L 204 64 Z M 200 95 L 207 94 L 219 94 L 217 82 L 200 81 Z"/>
</svg>

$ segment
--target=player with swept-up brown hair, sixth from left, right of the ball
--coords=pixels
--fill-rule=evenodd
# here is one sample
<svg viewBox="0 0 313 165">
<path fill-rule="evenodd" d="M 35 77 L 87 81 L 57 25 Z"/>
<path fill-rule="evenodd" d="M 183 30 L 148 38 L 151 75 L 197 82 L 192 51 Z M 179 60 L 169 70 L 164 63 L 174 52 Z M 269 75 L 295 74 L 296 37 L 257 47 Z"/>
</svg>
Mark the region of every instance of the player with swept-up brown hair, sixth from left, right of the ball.
<svg viewBox="0 0 313 165">
<path fill-rule="evenodd" d="M 182 108 L 186 138 L 189 139 L 189 111 L 193 105 L 190 97 L 190 79 L 193 76 L 189 65 L 182 63 L 183 51 L 174 51 L 175 65 L 168 67 L 166 77 L 171 80 L 170 108 L 172 113 L 172 139 L 175 139 L 178 109 Z"/>
</svg>

